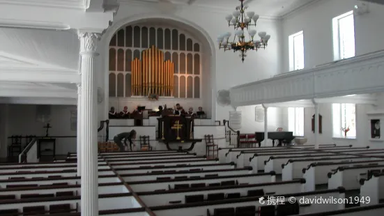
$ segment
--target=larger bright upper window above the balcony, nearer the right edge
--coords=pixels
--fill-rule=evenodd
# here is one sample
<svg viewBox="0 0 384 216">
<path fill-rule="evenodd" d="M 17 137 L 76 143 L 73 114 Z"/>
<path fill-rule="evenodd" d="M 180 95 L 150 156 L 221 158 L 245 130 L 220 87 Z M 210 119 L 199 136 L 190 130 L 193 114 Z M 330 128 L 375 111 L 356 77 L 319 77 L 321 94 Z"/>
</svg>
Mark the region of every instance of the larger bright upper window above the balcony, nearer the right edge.
<svg viewBox="0 0 384 216">
<path fill-rule="evenodd" d="M 355 22 L 353 10 L 335 17 L 333 26 L 333 59 L 348 59 L 355 56 Z"/>
</svg>

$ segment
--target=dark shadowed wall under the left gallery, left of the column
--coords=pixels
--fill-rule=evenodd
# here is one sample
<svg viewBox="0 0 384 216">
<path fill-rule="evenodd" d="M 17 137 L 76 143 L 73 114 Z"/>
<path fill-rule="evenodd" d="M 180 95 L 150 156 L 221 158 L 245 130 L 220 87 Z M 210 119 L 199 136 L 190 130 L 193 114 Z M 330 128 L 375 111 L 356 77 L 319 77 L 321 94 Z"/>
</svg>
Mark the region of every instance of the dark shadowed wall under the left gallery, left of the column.
<svg viewBox="0 0 384 216">
<path fill-rule="evenodd" d="M 0 120 L 0 134 L 3 132 L 2 127 L 5 127 L 6 137 L 12 135 L 45 136 L 45 128 L 43 127 L 46 124 L 36 121 L 36 105 L 0 105 L 1 113 L 6 110 L 5 107 L 8 107 L 9 115 L 4 122 L 5 124 Z M 49 136 L 76 136 L 77 132 L 70 128 L 70 111 L 76 110 L 76 106 L 52 105 L 52 120 L 49 122 L 52 128 L 49 129 Z M 0 143 L 1 140 L 0 135 Z M 10 144 L 10 139 L 8 139 L 7 144 Z M 2 143 L 0 157 L 6 157 L 6 151 L 3 151 L 5 149 L 6 146 Z M 76 138 L 57 138 L 56 155 L 66 155 L 68 152 L 76 152 Z"/>
</svg>

